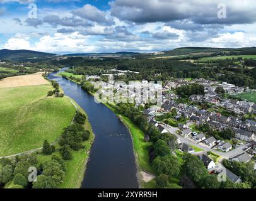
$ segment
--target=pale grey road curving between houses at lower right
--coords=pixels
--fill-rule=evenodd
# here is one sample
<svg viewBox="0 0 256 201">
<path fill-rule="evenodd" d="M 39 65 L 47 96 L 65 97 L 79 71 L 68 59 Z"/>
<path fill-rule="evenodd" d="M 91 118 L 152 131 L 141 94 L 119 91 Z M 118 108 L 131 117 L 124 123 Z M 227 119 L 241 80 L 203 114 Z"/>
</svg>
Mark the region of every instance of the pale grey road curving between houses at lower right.
<svg viewBox="0 0 256 201">
<path fill-rule="evenodd" d="M 174 134 L 175 136 L 177 136 L 178 139 L 180 139 L 180 141 L 182 141 L 182 143 L 185 143 L 185 144 L 189 144 L 189 145 L 192 145 L 192 146 L 197 146 L 198 148 L 201 148 L 201 149 L 204 149 L 205 151 L 212 151 L 213 153 L 216 153 L 220 156 L 222 156 L 223 158 L 225 159 L 229 159 L 229 158 L 233 158 L 234 156 L 236 155 L 239 155 L 240 153 L 243 152 L 243 148 L 245 148 L 247 146 L 247 144 L 243 145 L 243 146 L 240 146 L 236 149 L 233 149 L 231 151 L 228 151 L 228 152 L 221 152 L 221 151 L 217 151 L 215 149 L 212 149 L 212 148 L 209 148 L 207 146 L 202 146 L 201 144 L 197 144 L 195 141 L 193 141 L 192 139 L 190 138 L 184 138 L 183 136 L 180 136 L 179 134 L 177 134 L 177 131 L 179 131 L 180 129 L 178 128 L 175 128 L 175 127 L 172 127 L 172 126 L 169 126 L 165 123 L 161 123 L 161 125 L 169 132 L 169 133 L 172 133 Z"/>
</svg>

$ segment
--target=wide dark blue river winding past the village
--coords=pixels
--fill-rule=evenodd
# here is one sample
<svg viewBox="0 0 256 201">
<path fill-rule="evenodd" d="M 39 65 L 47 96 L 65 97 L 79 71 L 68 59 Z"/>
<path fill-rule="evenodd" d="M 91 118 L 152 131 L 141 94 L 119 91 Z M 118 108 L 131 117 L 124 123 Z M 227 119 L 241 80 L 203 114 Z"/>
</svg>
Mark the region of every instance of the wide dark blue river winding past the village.
<svg viewBox="0 0 256 201">
<path fill-rule="evenodd" d="M 62 68 L 61 71 L 64 70 Z M 56 80 L 64 94 L 86 111 L 95 134 L 81 188 L 138 188 L 136 161 L 128 129 L 107 106 L 97 104 L 81 85 L 55 74 L 48 78 Z"/>
</svg>

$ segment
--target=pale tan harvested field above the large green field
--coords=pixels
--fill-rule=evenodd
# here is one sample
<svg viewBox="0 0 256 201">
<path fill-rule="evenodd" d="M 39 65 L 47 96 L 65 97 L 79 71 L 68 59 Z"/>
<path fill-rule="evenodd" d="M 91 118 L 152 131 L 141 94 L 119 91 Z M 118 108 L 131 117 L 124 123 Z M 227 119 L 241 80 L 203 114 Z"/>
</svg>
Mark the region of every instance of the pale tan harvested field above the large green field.
<svg viewBox="0 0 256 201">
<path fill-rule="evenodd" d="M 49 84 L 49 82 L 45 80 L 44 77 L 42 77 L 42 74 L 43 72 L 38 72 L 30 75 L 8 77 L 6 79 L 0 80 L 0 88 Z"/>
</svg>

